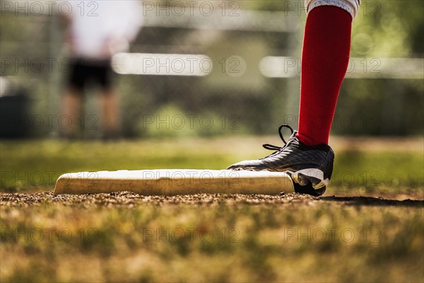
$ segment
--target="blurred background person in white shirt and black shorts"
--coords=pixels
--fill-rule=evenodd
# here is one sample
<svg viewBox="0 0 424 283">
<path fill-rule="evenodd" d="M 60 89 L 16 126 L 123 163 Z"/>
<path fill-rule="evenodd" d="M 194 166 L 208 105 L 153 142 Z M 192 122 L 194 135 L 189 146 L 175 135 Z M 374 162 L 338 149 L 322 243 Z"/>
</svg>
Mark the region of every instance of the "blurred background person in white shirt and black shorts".
<svg viewBox="0 0 424 283">
<path fill-rule="evenodd" d="M 66 78 L 66 91 L 61 101 L 61 114 L 71 120 L 71 127 L 61 135 L 78 135 L 83 94 L 94 83 L 100 88 L 100 125 L 102 137 L 119 135 L 119 98 L 114 91 L 111 59 L 129 49 L 142 24 L 141 1 L 71 2 L 72 12 L 64 16 L 66 43 L 71 66 Z M 84 117 L 81 117 L 83 120 Z"/>
</svg>

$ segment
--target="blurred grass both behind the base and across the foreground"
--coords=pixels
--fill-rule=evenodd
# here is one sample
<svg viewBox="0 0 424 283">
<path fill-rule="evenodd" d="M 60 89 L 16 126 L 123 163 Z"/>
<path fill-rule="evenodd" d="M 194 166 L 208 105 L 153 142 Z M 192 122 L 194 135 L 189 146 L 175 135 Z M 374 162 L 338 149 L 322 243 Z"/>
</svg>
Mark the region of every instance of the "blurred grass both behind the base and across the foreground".
<svg viewBox="0 0 424 283">
<path fill-rule="evenodd" d="M 52 191 L 68 171 L 225 168 L 268 154 L 264 141 L 1 141 L 0 196 Z M 379 144 L 334 139 L 325 196 L 420 201 L 2 201 L 0 280 L 423 282 L 423 140 Z"/>
</svg>

